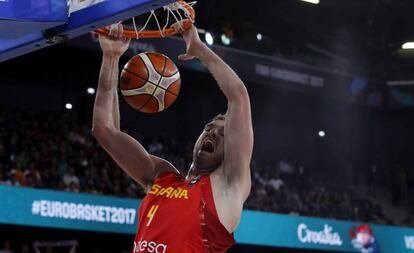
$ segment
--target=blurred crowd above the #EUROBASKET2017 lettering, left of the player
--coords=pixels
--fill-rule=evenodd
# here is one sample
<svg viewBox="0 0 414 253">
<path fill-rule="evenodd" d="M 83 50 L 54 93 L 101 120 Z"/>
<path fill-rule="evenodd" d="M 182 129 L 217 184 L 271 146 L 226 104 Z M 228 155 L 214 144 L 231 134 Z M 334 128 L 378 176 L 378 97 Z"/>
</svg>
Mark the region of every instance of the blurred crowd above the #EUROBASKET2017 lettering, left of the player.
<svg viewBox="0 0 414 253">
<path fill-rule="evenodd" d="M 0 111 L 0 184 L 136 197 L 136 185 L 68 115 Z"/>
</svg>

